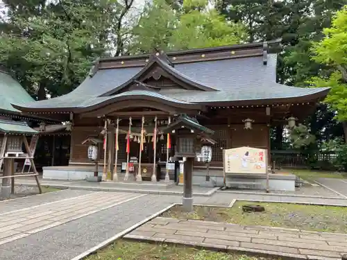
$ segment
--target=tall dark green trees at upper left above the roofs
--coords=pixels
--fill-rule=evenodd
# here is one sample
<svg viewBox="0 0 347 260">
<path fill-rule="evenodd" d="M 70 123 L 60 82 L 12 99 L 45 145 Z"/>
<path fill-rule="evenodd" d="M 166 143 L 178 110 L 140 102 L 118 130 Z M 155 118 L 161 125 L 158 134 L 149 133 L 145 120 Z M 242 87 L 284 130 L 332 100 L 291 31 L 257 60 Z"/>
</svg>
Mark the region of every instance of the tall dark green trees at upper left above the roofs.
<svg viewBox="0 0 347 260">
<path fill-rule="evenodd" d="M 0 62 L 37 99 L 71 92 L 92 62 L 124 53 L 133 0 L 5 1 Z"/>
</svg>

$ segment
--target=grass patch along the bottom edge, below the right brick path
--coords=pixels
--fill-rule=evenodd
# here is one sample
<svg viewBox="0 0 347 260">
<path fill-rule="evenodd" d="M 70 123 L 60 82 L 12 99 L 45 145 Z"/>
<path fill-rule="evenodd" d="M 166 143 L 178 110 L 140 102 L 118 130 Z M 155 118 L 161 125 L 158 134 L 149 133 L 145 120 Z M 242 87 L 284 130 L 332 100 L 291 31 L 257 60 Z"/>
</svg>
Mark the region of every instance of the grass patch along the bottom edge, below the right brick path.
<svg viewBox="0 0 347 260">
<path fill-rule="evenodd" d="M 86 260 L 272 260 L 278 258 L 248 257 L 242 254 L 226 254 L 197 250 L 180 245 L 142 243 L 126 240 L 115 241 Z"/>
</svg>

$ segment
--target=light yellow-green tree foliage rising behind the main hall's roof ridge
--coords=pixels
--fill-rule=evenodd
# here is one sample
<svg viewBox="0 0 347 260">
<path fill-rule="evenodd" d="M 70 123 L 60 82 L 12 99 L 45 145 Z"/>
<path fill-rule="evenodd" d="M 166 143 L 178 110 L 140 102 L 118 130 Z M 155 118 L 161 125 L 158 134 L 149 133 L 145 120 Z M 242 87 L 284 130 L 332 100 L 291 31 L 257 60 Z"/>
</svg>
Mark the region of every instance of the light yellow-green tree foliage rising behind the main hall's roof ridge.
<svg viewBox="0 0 347 260">
<path fill-rule="evenodd" d="M 246 35 L 242 24 L 226 21 L 206 0 L 185 0 L 179 10 L 165 0 L 147 3 L 134 33 L 134 52 L 237 44 Z"/>
</svg>

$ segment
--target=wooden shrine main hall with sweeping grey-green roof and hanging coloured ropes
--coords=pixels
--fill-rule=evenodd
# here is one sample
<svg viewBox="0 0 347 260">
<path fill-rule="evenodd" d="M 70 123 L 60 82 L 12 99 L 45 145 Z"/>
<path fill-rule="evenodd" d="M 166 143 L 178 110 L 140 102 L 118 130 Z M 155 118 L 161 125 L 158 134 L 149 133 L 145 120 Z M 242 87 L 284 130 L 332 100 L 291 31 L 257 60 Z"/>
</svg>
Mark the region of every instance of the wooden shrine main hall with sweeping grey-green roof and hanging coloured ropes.
<svg viewBox="0 0 347 260">
<path fill-rule="evenodd" d="M 69 166 L 45 167 L 44 178 L 83 180 L 92 176 L 94 162 L 87 157 L 86 140 L 107 137 L 107 145 L 99 146 L 98 171 L 107 164 L 108 171 L 114 172 L 117 162 L 122 180 L 125 173 L 121 168 L 128 161 L 133 163 L 128 170 L 135 180 L 135 166 L 140 161 L 142 168 L 149 167 L 146 171 L 155 167 L 157 180 L 164 179 L 176 139 L 162 129 L 179 116 L 212 130 L 210 171 L 211 176 L 220 177 L 223 149 L 266 149 L 270 163 L 270 128 L 286 125 L 289 118 L 302 121 L 328 94 L 329 88 L 276 83 L 277 54 L 269 52 L 271 44 L 279 43 L 100 58 L 69 94 L 12 105 L 24 114 L 44 115 L 71 125 Z M 105 146 L 108 148 L 103 149 Z M 196 146 L 197 153 L 199 149 Z M 205 168 L 203 162 L 194 162 L 193 182 L 199 180 L 194 176 L 205 174 Z"/>
</svg>

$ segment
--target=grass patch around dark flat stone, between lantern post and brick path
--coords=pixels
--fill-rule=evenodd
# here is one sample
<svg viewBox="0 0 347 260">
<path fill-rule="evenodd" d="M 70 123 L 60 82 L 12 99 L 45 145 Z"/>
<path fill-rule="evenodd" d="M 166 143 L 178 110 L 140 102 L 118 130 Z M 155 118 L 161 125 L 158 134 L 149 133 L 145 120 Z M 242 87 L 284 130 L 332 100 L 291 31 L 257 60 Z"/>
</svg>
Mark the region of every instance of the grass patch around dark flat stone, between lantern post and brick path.
<svg viewBox="0 0 347 260">
<path fill-rule="evenodd" d="M 244 212 L 242 205 L 261 205 L 265 211 Z M 191 213 L 185 212 L 180 205 L 176 205 L 164 212 L 162 216 L 347 233 L 347 207 L 237 201 L 231 208 L 196 206 Z"/>
</svg>

